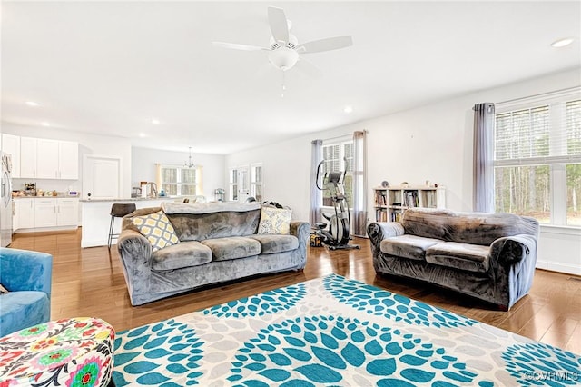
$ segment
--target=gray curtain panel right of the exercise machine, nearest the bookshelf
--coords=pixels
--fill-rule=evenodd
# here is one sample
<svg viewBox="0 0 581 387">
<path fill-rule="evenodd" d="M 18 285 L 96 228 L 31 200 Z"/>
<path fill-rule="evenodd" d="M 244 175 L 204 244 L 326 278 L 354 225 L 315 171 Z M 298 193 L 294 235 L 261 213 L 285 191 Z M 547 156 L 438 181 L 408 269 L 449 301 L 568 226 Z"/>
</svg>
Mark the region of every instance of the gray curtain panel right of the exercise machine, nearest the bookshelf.
<svg viewBox="0 0 581 387">
<path fill-rule="evenodd" d="M 367 234 L 367 135 L 353 133 L 353 232 Z"/>
</svg>

